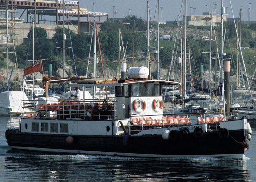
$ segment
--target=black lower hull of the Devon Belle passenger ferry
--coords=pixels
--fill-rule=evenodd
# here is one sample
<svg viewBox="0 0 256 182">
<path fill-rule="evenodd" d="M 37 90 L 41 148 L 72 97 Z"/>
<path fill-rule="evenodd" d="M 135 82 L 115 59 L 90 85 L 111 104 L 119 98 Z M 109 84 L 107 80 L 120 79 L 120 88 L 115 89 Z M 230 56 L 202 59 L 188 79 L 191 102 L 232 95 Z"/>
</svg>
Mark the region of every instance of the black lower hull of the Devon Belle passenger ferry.
<svg viewBox="0 0 256 182">
<path fill-rule="evenodd" d="M 164 140 L 161 135 L 89 136 L 72 135 L 74 142 L 68 144 L 68 135 L 36 134 L 7 130 L 5 133 L 10 147 L 55 153 L 83 153 L 100 155 L 120 155 L 134 157 L 178 157 L 244 154 L 245 131 L 229 131 L 227 139 L 220 139 L 218 132 L 208 132 L 202 138 L 189 134 L 186 139 Z"/>
</svg>

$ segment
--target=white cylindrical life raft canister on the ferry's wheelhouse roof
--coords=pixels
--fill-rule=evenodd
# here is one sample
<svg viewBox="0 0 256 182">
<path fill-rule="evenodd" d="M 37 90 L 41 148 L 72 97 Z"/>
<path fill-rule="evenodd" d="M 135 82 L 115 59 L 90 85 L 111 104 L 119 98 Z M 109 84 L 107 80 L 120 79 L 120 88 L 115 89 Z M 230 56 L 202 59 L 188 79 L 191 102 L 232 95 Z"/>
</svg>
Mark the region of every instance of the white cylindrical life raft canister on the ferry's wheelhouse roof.
<svg viewBox="0 0 256 182">
<path fill-rule="evenodd" d="M 128 78 L 147 78 L 149 70 L 147 67 L 130 67 L 127 71 Z"/>
</svg>

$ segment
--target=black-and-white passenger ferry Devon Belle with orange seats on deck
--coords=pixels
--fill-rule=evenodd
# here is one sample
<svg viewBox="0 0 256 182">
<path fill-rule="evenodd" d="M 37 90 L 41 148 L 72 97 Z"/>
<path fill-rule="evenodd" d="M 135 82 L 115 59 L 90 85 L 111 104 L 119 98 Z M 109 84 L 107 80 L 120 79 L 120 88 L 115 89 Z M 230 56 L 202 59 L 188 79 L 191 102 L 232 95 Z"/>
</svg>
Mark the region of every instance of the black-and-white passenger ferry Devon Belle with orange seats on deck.
<svg viewBox="0 0 256 182">
<path fill-rule="evenodd" d="M 38 113 L 21 118 L 5 137 L 12 149 L 50 153 L 243 158 L 252 132 L 246 118 L 163 114 L 161 87 L 179 85 L 147 76 L 79 80 L 69 86 L 114 87 L 115 99 L 38 105 Z"/>
</svg>

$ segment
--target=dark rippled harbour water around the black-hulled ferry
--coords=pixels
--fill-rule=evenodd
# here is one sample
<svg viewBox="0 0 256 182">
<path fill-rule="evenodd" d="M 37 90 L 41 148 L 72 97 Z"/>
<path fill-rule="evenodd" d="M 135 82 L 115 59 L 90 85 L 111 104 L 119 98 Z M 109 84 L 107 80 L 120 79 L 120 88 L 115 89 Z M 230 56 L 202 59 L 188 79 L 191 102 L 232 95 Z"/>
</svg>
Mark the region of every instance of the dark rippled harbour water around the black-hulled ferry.
<svg viewBox="0 0 256 182">
<path fill-rule="evenodd" d="M 256 181 L 256 125 L 243 160 L 148 159 L 13 150 L 9 120 L 0 116 L 0 181 Z"/>
</svg>

